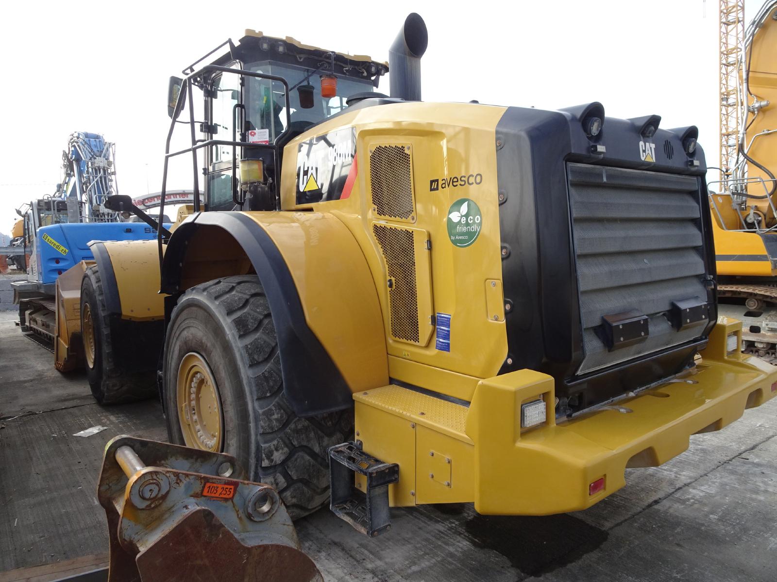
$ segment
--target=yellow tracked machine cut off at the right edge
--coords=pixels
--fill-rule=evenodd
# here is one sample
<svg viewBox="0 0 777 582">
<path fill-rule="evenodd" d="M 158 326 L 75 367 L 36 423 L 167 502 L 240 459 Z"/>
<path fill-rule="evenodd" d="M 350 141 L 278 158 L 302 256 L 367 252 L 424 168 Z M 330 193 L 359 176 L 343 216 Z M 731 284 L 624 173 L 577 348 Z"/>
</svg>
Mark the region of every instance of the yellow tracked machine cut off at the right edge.
<svg viewBox="0 0 777 582">
<path fill-rule="evenodd" d="M 745 31 L 737 95 L 721 95 L 737 135 L 720 182 L 710 184 L 720 311 L 742 320 L 742 348 L 777 364 L 777 2 L 768 0 Z M 730 113 L 736 108 L 740 110 Z M 721 165 L 725 165 L 722 163 Z"/>
</svg>

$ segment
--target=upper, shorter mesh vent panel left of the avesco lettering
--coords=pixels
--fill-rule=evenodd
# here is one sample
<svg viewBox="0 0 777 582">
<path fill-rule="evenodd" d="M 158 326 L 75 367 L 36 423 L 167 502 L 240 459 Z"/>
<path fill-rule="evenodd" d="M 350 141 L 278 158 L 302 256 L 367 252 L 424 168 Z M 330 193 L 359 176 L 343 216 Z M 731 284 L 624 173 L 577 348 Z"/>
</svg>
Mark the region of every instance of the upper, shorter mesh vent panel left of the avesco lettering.
<svg viewBox="0 0 777 582">
<path fill-rule="evenodd" d="M 370 189 L 375 213 L 386 218 L 413 215 L 413 178 L 410 147 L 375 146 L 370 152 Z"/>
</svg>

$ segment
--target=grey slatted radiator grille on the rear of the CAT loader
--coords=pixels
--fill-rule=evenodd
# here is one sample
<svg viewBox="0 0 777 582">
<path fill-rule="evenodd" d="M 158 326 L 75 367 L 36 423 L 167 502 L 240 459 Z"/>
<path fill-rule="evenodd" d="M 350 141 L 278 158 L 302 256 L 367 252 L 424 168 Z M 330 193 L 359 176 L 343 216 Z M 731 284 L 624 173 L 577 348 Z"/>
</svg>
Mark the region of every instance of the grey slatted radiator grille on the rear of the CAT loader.
<svg viewBox="0 0 777 582">
<path fill-rule="evenodd" d="M 581 164 L 568 166 L 584 360 L 591 372 L 699 337 L 706 322 L 675 331 L 673 301 L 706 300 L 696 178 Z M 612 352 L 604 315 L 650 317 L 648 338 Z"/>
</svg>

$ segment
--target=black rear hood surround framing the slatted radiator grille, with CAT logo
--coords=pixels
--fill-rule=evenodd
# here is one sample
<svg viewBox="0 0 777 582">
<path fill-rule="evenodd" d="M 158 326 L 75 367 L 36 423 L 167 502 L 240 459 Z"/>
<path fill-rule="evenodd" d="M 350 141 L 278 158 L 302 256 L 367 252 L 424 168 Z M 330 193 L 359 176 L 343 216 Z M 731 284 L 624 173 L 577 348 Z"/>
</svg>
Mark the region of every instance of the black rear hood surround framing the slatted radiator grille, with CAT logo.
<svg viewBox="0 0 777 582">
<path fill-rule="evenodd" d="M 639 120 L 609 117 L 605 117 L 601 133 L 589 138 L 581 117 L 590 110 L 591 106 L 563 112 L 510 107 L 497 125 L 495 144 L 501 240 L 503 247 L 510 250 L 502 262 L 504 296 L 514 304 L 507 314 L 509 353 L 500 373 L 522 368 L 548 373 L 556 379 L 556 396 L 569 404 L 571 412 L 680 372 L 692 362 L 698 348 L 706 344 L 716 320 L 714 253 L 702 149 L 697 147 L 695 152 L 699 165 L 689 166 L 681 132 L 659 129 L 650 140 L 645 140 L 639 135 Z M 604 146 L 604 153 L 592 153 L 594 144 Z M 702 286 L 695 289 L 695 294 L 706 301 L 709 319 L 706 324 L 697 323 L 687 340 L 665 348 L 652 345 L 650 353 L 635 352 L 624 361 L 584 374 L 577 372 L 584 360 L 584 314 L 580 312 L 576 266 L 580 249 L 576 250 L 573 241 L 567 183 L 570 163 L 655 172 L 657 182 L 673 182 L 671 175 L 676 175 L 682 177 L 685 185 L 690 184 L 686 192 L 693 197 L 698 210 L 685 220 L 694 227 L 693 232 L 685 229 L 688 231 L 673 236 L 687 241 L 688 247 L 695 248 L 693 252 L 701 257 L 697 280 L 702 281 Z M 639 206 L 640 189 L 636 186 L 633 204 Z M 624 240 L 629 239 L 627 233 Z M 593 241 L 589 252 L 595 254 L 598 244 Z M 682 294 L 679 289 L 671 296 L 674 301 L 687 298 L 688 293 Z M 655 319 L 655 324 L 665 327 L 660 329 L 662 334 L 677 333 L 669 321 L 670 307 L 671 302 L 666 310 L 653 316 L 660 318 Z M 628 309 L 603 314 L 624 311 Z M 601 324 L 601 315 L 597 324 Z M 635 349 L 625 347 L 622 352 Z"/>
</svg>

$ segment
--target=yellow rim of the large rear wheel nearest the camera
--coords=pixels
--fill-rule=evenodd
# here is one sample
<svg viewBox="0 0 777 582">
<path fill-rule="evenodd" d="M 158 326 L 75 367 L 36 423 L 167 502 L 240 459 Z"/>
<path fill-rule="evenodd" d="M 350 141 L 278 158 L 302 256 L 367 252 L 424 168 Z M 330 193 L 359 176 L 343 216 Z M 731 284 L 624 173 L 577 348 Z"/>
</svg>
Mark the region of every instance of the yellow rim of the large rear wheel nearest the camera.
<svg viewBox="0 0 777 582">
<path fill-rule="evenodd" d="M 221 397 L 205 359 L 194 352 L 183 356 L 176 380 L 178 422 L 186 446 L 221 451 L 224 434 Z"/>
</svg>

